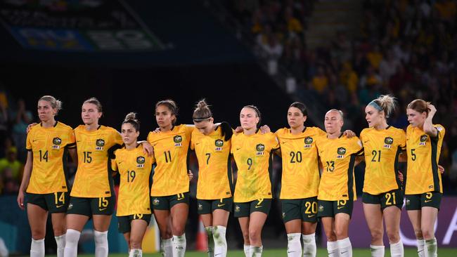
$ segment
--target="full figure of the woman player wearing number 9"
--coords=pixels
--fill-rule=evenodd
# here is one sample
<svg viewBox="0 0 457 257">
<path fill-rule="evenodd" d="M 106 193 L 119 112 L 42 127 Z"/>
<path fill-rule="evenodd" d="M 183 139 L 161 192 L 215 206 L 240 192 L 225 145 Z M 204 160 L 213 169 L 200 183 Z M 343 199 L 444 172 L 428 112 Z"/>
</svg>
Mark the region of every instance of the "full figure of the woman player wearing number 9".
<svg viewBox="0 0 457 257">
<path fill-rule="evenodd" d="M 271 154 L 279 144 L 273 133 L 257 129 L 260 112 L 247 105 L 240 112 L 243 133 L 232 136 L 231 153 L 238 167 L 233 202 L 240 222 L 246 256 L 262 256 L 262 228 L 271 207 Z"/>
</svg>

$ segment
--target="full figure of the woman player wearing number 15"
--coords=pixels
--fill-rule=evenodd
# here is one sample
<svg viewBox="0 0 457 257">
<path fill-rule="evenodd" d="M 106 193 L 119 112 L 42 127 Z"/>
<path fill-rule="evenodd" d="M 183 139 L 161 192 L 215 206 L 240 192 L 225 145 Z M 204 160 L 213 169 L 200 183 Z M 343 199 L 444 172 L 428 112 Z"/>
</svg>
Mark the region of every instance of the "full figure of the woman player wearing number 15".
<svg viewBox="0 0 457 257">
<path fill-rule="evenodd" d="M 75 129 L 78 169 L 67 211 L 65 257 L 77 256 L 79 236 L 87 220 L 94 220 L 95 256 L 108 256 L 108 227 L 115 206 L 115 193 L 108 162 L 108 152 L 122 144 L 120 134 L 98 124 L 101 103 L 85 100 L 82 121 Z"/>
</svg>

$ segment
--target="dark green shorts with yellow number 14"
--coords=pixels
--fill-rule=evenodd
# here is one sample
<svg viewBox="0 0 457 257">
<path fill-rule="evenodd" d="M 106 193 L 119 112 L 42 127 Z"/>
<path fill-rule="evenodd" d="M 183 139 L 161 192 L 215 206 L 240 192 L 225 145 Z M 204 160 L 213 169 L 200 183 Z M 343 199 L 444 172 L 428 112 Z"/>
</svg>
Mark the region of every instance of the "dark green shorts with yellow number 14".
<svg viewBox="0 0 457 257">
<path fill-rule="evenodd" d="M 26 193 L 25 202 L 35 204 L 49 213 L 60 213 L 67 211 L 69 192 L 54 192 L 51 194 L 32 194 Z"/>
</svg>

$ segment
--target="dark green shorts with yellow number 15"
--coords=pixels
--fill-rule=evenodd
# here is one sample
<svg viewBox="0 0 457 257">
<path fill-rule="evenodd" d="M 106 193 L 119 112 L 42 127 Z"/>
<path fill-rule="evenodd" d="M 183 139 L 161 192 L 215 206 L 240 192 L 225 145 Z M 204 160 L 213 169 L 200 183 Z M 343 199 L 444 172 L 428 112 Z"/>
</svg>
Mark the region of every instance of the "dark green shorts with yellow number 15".
<svg viewBox="0 0 457 257">
<path fill-rule="evenodd" d="M 92 215 L 112 215 L 116 204 L 114 192 L 110 197 L 70 197 L 67 214 L 80 214 L 91 217 Z"/>
</svg>

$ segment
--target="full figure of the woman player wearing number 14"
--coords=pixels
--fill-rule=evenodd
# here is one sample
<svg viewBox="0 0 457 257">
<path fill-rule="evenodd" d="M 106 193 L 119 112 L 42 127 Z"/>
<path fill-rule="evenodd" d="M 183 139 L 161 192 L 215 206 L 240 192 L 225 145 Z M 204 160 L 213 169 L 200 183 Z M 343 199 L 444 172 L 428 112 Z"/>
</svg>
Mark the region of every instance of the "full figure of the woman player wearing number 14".
<svg viewBox="0 0 457 257">
<path fill-rule="evenodd" d="M 46 220 L 51 213 L 57 256 L 65 247 L 65 212 L 69 190 L 67 185 L 67 152 L 77 162 L 75 136 L 70 126 L 54 118 L 62 103 L 51 95 L 38 100 L 41 123 L 32 126 L 27 134 L 27 162 L 18 194 L 18 205 L 24 209 L 27 192 L 27 216 L 32 230 L 30 256 L 44 256 Z"/>
</svg>

